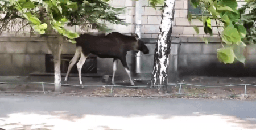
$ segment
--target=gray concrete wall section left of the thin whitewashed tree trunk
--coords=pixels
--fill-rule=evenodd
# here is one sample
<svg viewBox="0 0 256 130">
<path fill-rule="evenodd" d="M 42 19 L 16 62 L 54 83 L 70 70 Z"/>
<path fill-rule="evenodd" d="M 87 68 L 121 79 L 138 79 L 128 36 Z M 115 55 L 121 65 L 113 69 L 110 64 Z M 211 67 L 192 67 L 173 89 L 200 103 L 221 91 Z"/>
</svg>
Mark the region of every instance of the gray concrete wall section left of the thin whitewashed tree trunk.
<svg viewBox="0 0 256 130">
<path fill-rule="evenodd" d="M 46 42 L 35 37 L 0 37 L 0 75 L 44 72 Z"/>
</svg>

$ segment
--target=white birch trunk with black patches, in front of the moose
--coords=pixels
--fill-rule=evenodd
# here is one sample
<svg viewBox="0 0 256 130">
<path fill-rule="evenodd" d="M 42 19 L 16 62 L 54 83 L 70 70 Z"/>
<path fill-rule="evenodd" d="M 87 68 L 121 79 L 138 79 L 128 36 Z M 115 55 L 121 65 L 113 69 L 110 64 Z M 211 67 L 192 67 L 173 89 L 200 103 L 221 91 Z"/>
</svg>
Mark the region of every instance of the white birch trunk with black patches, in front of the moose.
<svg viewBox="0 0 256 130">
<path fill-rule="evenodd" d="M 160 24 L 160 32 L 155 48 L 154 67 L 151 85 L 165 85 L 168 83 L 169 54 L 171 51 L 172 23 L 174 21 L 175 0 L 166 0 Z M 160 90 L 161 87 L 159 86 Z"/>
</svg>

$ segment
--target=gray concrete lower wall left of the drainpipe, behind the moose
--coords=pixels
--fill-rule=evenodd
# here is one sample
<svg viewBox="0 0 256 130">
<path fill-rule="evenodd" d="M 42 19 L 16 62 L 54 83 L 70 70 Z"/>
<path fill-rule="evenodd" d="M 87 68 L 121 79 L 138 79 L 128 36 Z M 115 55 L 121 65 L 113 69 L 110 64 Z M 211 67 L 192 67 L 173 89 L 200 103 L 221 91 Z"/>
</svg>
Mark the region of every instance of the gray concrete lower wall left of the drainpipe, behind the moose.
<svg viewBox="0 0 256 130">
<path fill-rule="evenodd" d="M 57 42 L 57 38 L 49 41 Z M 76 45 L 64 42 L 62 54 L 75 54 Z M 28 75 L 31 72 L 45 72 L 45 54 L 49 54 L 46 38 L 43 37 L 0 37 L 0 75 Z M 133 57 L 131 56 L 133 55 Z M 127 64 L 134 71 L 132 58 L 127 54 Z M 98 73 L 113 74 L 113 58 L 97 58 Z M 127 73 L 121 62 L 117 75 L 127 79 Z"/>
</svg>

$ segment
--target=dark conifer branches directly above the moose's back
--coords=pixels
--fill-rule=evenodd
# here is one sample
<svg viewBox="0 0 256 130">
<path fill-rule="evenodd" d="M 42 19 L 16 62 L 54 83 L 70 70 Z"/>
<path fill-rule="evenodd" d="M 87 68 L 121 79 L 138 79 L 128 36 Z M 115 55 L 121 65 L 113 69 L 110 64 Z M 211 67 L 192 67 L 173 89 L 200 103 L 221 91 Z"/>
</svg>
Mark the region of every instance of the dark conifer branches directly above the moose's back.
<svg viewBox="0 0 256 130">
<path fill-rule="evenodd" d="M 104 32 L 111 31 L 105 22 L 127 25 L 123 19 L 118 18 L 119 14 L 125 13 L 126 8 L 114 8 L 101 0 L 77 1 L 77 5 L 78 10 L 67 14 L 68 25 L 79 25 L 81 29 L 90 27 Z"/>
</svg>

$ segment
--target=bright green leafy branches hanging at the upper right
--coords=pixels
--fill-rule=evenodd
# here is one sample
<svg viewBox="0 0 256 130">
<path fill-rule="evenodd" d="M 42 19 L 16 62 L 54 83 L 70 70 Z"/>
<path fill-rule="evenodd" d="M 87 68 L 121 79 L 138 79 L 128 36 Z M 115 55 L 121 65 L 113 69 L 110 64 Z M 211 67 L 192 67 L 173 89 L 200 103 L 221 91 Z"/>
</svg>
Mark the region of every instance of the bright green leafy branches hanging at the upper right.
<svg viewBox="0 0 256 130">
<path fill-rule="evenodd" d="M 201 7 L 204 9 L 204 12 L 210 12 L 216 24 L 221 25 L 221 27 L 217 26 L 218 31 L 220 30 L 219 28 L 223 28 L 222 32 L 219 31 L 219 36 L 229 47 L 217 50 L 217 57 L 220 62 L 233 63 L 234 59 L 237 59 L 244 64 L 245 57 L 236 51 L 246 46 L 243 38 L 246 37 L 247 30 L 239 19 L 240 13 L 237 10 L 236 0 L 191 0 L 191 3 L 195 8 Z M 196 18 L 203 21 L 205 34 L 209 33 L 212 35 L 210 18 L 204 16 L 204 12 L 201 17 L 197 16 Z M 188 19 L 191 21 L 191 16 L 188 16 Z M 217 23 L 217 21 L 220 22 Z M 208 41 L 205 42 L 208 43 Z"/>
</svg>

